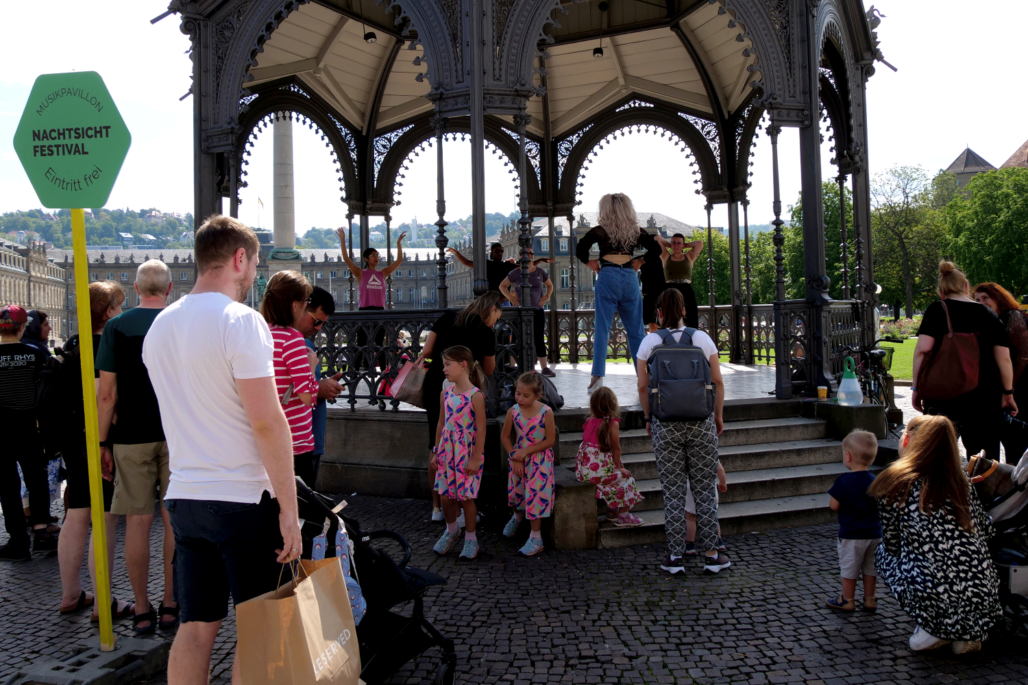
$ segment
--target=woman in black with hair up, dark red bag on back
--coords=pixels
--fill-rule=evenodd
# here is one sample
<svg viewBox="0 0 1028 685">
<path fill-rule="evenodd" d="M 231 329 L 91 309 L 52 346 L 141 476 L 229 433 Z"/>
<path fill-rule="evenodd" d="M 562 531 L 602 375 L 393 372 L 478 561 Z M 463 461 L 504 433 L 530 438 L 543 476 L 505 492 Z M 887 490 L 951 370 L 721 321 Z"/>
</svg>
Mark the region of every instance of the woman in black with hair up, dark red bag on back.
<svg viewBox="0 0 1028 685">
<path fill-rule="evenodd" d="M 953 262 L 939 263 L 939 297 L 924 310 L 917 331 L 911 404 L 922 414 L 953 421 L 967 454 L 985 450 L 998 460 L 1002 411 L 1017 414 L 1018 409 L 1009 338 L 1002 321 L 970 299 L 967 277 Z M 950 353 L 975 346 L 978 354 L 963 359 Z"/>
</svg>

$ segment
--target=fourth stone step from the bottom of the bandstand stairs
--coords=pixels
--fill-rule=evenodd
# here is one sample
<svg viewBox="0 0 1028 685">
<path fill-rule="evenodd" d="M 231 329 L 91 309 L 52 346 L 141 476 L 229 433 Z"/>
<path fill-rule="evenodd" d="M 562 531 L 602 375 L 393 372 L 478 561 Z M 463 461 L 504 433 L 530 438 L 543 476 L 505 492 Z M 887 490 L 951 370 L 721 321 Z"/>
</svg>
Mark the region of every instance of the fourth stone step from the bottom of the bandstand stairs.
<svg viewBox="0 0 1028 685">
<path fill-rule="evenodd" d="M 751 446 L 765 443 L 809 441 L 824 437 L 825 424 L 816 419 L 788 417 L 757 419 L 725 423 L 718 443 L 721 447 Z M 574 459 L 582 443 L 582 431 L 560 433 L 561 456 Z M 653 442 L 645 428 L 621 431 L 621 453 L 641 454 L 653 452 Z"/>
</svg>

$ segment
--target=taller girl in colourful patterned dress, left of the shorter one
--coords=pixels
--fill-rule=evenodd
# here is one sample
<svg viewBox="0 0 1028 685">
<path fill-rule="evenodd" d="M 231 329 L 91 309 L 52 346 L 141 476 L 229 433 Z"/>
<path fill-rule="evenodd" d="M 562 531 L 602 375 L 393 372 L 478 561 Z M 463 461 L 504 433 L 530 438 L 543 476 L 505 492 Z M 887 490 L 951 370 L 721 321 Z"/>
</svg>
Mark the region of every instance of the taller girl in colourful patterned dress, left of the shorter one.
<svg viewBox="0 0 1028 685">
<path fill-rule="evenodd" d="M 446 532 L 433 549 L 445 555 L 453 547 L 461 536 L 457 511 L 463 509 L 467 523 L 461 559 L 474 559 L 479 550 L 475 498 L 482 484 L 485 451 L 485 396 L 479 387 L 485 383 L 485 374 L 464 345 L 443 351 L 443 374 L 453 385 L 440 394 L 443 411 L 439 413 L 433 450 L 438 458 L 436 492 L 442 498 Z"/>
</svg>

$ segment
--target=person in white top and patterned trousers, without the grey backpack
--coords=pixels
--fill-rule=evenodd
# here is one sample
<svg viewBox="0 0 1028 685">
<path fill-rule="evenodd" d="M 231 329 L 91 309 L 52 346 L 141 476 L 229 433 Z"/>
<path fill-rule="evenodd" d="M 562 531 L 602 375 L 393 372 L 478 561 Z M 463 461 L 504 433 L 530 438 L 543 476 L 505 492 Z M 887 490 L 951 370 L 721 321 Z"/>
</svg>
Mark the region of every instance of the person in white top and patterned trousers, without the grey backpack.
<svg viewBox="0 0 1028 685">
<path fill-rule="evenodd" d="M 662 329 L 670 330 L 670 339 L 683 342 L 686 304 L 682 293 L 668 288 L 657 299 L 657 318 Z M 647 361 L 653 348 L 664 344 L 663 330 L 651 333 L 639 343 L 639 404 L 646 414 L 646 428 L 653 439 L 657 472 L 664 494 L 664 530 L 668 555 L 660 568 L 674 574 L 686 570 L 682 561 L 686 551 L 686 502 L 692 489 L 696 509 L 696 549 L 703 549 L 703 570 L 718 573 L 732 562 L 722 554 L 718 536 L 718 436 L 725 428 L 722 412 L 725 386 L 718 358 L 718 346 L 703 331 L 689 330 L 692 344 L 703 350 L 710 364 L 710 382 L 715 388 L 714 411 L 697 421 L 660 421 L 650 413 L 650 369 Z M 663 335 L 662 335 L 663 334 Z M 689 338 L 685 342 L 689 343 Z M 669 341 L 670 342 L 670 341 Z"/>
</svg>

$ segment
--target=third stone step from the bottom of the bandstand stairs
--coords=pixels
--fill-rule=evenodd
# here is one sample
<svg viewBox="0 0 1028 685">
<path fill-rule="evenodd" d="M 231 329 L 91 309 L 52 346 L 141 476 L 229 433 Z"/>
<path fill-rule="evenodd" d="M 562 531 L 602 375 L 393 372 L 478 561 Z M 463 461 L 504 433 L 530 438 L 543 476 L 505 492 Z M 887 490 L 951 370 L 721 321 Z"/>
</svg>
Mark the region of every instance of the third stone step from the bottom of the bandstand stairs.
<svg viewBox="0 0 1028 685">
<path fill-rule="evenodd" d="M 819 437 L 784 443 L 734 445 L 720 448 L 719 453 L 725 471 L 732 473 L 759 468 L 839 463 L 842 460 L 842 443 Z M 561 463 L 574 468 L 574 456 L 561 453 Z M 623 454 L 621 463 L 632 472 L 636 480 L 659 478 L 657 458 L 653 452 Z"/>
</svg>

